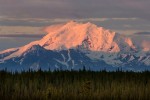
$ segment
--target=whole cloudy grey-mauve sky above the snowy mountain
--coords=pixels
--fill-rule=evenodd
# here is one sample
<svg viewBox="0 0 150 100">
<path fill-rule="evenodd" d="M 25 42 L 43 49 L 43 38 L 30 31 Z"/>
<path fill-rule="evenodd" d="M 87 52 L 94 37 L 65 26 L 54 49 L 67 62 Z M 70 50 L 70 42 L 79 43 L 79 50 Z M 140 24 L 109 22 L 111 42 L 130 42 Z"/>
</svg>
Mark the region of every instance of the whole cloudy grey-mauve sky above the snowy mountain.
<svg viewBox="0 0 150 100">
<path fill-rule="evenodd" d="M 44 27 L 70 20 L 150 41 L 149 5 L 150 0 L 0 0 L 0 50 L 38 40 Z"/>
</svg>

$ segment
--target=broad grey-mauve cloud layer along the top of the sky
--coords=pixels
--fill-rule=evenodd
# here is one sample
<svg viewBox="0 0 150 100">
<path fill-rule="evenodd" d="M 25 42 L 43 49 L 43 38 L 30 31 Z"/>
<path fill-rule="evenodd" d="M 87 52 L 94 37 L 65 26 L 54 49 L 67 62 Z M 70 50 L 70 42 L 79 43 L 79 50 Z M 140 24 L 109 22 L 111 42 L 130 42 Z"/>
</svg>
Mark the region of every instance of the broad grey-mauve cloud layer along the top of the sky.
<svg viewBox="0 0 150 100">
<path fill-rule="evenodd" d="M 1 0 L 0 16 L 150 20 L 149 5 L 149 0 Z"/>
</svg>

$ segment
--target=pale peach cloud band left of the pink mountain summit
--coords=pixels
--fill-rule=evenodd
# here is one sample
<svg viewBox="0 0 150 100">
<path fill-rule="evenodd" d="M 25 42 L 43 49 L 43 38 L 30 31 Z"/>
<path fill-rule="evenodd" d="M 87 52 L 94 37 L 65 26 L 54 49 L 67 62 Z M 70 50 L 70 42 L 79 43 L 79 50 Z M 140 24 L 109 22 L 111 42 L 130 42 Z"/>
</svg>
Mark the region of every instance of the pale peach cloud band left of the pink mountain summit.
<svg viewBox="0 0 150 100">
<path fill-rule="evenodd" d="M 28 37 L 39 38 L 46 33 L 43 27 L 30 26 L 0 26 L 0 38 L 10 37 Z"/>
</svg>

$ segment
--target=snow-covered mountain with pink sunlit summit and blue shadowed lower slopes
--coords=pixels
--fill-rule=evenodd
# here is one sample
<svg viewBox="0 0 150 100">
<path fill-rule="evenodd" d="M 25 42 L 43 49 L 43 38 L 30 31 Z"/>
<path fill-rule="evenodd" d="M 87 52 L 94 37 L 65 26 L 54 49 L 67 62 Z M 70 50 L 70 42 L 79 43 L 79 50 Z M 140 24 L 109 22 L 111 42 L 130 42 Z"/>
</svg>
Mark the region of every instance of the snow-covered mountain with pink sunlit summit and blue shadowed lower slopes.
<svg viewBox="0 0 150 100">
<path fill-rule="evenodd" d="M 139 51 L 129 37 L 92 23 L 70 21 L 45 31 L 39 41 L 0 52 L 0 69 L 150 69 L 149 51 Z"/>
</svg>

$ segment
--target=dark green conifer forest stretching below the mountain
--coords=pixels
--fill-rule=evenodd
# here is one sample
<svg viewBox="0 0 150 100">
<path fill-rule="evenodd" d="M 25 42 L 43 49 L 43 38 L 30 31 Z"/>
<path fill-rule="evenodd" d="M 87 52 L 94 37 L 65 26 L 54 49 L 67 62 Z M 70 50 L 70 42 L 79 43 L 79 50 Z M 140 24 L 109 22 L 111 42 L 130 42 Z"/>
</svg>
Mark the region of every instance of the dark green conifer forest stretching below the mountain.
<svg viewBox="0 0 150 100">
<path fill-rule="evenodd" d="M 0 71 L 1 100 L 148 100 L 150 72 Z"/>
</svg>

